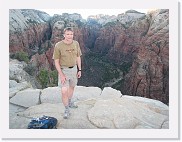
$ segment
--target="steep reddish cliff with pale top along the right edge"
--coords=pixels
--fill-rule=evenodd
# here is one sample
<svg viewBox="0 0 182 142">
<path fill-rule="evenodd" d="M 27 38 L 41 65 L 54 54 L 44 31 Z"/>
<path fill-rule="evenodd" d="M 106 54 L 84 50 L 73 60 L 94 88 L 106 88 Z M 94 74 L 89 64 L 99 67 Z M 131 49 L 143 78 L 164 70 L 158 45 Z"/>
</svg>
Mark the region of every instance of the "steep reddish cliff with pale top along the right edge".
<svg viewBox="0 0 182 142">
<path fill-rule="evenodd" d="M 158 10 L 151 15 L 149 29 L 125 77 L 122 87 L 125 93 L 169 102 L 168 18 L 168 10 Z"/>
</svg>

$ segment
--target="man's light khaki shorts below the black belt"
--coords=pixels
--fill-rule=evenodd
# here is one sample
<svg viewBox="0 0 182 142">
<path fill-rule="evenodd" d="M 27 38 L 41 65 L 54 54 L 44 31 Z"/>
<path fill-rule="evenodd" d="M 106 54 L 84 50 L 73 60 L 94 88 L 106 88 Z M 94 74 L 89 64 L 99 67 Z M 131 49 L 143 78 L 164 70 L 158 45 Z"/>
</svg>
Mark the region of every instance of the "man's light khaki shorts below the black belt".
<svg viewBox="0 0 182 142">
<path fill-rule="evenodd" d="M 78 82 L 77 78 L 77 66 L 74 66 L 73 68 L 68 67 L 62 67 L 62 72 L 66 76 L 66 81 L 64 84 L 61 83 L 61 78 L 58 76 L 58 86 L 59 87 L 75 87 Z"/>
</svg>

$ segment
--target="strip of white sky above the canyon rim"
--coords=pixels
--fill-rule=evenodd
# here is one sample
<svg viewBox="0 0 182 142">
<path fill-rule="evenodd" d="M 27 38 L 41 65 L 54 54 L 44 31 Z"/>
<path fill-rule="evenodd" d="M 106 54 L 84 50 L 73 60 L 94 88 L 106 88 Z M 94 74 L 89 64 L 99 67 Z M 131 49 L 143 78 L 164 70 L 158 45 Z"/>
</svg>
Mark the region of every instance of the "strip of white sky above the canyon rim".
<svg viewBox="0 0 182 142">
<path fill-rule="evenodd" d="M 97 14 L 104 14 L 104 15 L 115 15 L 125 13 L 125 11 L 129 9 L 38 9 L 40 11 L 44 11 L 48 13 L 50 16 L 53 16 L 54 14 L 61 15 L 62 13 L 78 13 L 81 14 L 83 19 L 87 19 L 90 15 L 97 15 Z M 147 11 L 151 9 L 133 9 L 138 12 L 147 13 Z"/>
</svg>

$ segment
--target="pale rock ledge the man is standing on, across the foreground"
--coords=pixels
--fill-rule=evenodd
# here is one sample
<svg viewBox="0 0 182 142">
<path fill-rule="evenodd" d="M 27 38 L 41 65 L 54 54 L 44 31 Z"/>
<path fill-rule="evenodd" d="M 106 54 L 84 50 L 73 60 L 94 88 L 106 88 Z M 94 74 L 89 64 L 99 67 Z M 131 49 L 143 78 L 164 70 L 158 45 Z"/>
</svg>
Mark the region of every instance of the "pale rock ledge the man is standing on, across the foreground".
<svg viewBox="0 0 182 142">
<path fill-rule="evenodd" d="M 10 99 L 10 129 L 26 129 L 31 118 L 43 115 L 58 119 L 58 129 L 168 129 L 169 108 L 160 101 L 132 97 L 110 87 L 77 86 L 71 109 L 63 119 L 60 89 L 22 90 Z M 150 117 L 149 117 L 150 116 Z M 155 119 L 155 121 L 153 121 Z"/>
</svg>

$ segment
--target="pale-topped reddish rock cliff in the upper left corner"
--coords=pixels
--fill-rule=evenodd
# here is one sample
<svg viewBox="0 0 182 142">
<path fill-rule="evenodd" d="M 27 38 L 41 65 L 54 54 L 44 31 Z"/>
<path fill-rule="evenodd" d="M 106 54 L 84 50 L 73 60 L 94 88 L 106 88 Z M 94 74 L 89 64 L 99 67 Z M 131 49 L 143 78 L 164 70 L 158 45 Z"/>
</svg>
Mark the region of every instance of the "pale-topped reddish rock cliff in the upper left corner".
<svg viewBox="0 0 182 142">
<path fill-rule="evenodd" d="M 36 53 L 40 45 L 50 36 L 47 22 L 50 16 L 38 10 L 9 10 L 10 53 L 26 51 Z"/>
</svg>

